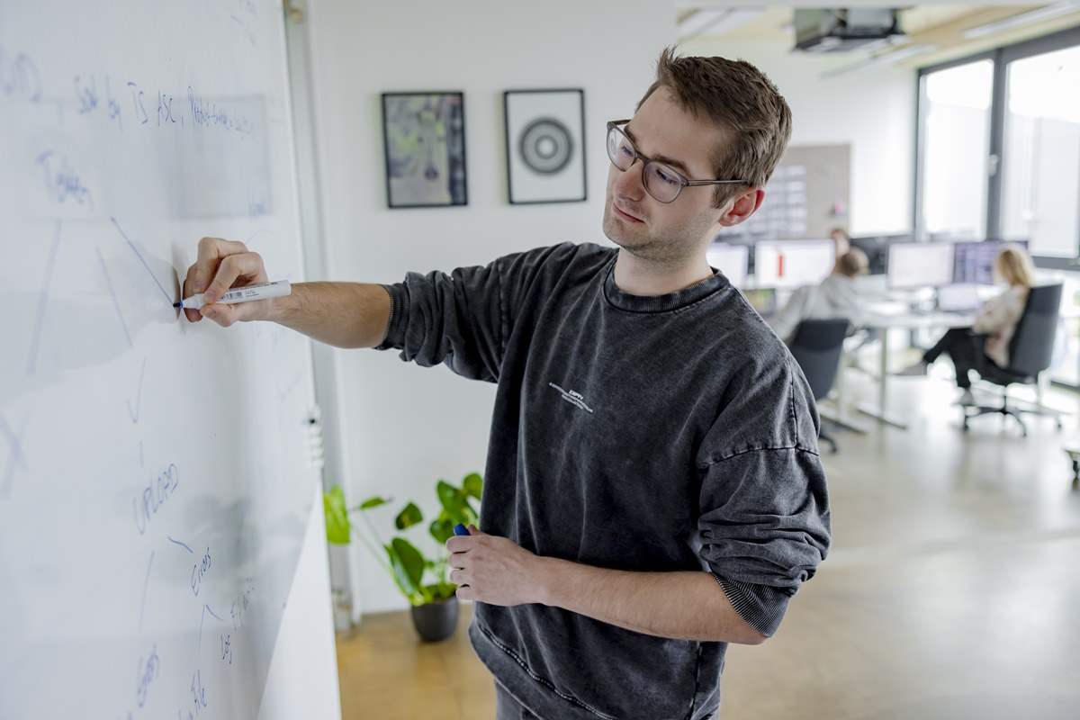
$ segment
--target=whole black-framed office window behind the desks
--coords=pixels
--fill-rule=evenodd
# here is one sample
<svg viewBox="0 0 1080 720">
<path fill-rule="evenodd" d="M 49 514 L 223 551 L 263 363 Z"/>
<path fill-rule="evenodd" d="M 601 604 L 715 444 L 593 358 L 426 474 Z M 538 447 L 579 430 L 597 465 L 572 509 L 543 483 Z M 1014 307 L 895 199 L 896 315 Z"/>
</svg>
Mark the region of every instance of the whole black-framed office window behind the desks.
<svg viewBox="0 0 1080 720">
<path fill-rule="evenodd" d="M 1026 240 L 1044 277 L 1065 281 L 1050 377 L 1072 388 L 1080 386 L 1078 87 L 1080 27 L 920 70 L 915 194 L 920 240 Z"/>
</svg>

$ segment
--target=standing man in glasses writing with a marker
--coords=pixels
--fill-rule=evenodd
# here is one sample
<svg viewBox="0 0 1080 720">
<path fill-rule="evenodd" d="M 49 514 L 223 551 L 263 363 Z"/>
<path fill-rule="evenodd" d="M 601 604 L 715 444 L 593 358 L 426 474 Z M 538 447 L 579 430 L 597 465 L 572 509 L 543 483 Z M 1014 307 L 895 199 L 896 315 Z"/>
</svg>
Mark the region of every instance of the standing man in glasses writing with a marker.
<svg viewBox="0 0 1080 720">
<path fill-rule="evenodd" d="M 498 383 L 481 529 L 447 547 L 499 718 L 711 717 L 727 643 L 772 635 L 827 552 L 809 388 L 705 260 L 789 133 L 753 66 L 665 51 L 634 118 L 608 124 L 618 249 L 188 311 Z M 185 294 L 266 280 L 242 244 L 203 239 Z"/>
</svg>

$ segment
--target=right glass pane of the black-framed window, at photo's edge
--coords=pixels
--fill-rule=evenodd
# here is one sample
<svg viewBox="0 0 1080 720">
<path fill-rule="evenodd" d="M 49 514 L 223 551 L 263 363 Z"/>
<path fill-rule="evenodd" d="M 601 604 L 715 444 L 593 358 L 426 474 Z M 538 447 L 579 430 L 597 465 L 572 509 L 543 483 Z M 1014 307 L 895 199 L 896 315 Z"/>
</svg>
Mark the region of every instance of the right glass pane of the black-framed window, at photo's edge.
<svg viewBox="0 0 1080 720">
<path fill-rule="evenodd" d="M 1080 47 L 1008 67 L 1001 231 L 1032 255 L 1075 257 L 1080 242 Z"/>
</svg>

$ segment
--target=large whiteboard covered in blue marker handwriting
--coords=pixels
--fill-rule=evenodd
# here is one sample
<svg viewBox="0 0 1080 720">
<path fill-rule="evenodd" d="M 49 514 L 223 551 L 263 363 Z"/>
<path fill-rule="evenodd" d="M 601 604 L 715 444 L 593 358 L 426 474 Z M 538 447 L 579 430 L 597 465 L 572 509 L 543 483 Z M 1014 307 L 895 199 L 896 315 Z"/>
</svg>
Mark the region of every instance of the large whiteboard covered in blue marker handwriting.
<svg viewBox="0 0 1080 720">
<path fill-rule="evenodd" d="M 172 303 L 206 234 L 301 279 L 286 78 L 270 2 L 0 0 L 4 720 L 259 711 L 310 348 Z"/>
</svg>

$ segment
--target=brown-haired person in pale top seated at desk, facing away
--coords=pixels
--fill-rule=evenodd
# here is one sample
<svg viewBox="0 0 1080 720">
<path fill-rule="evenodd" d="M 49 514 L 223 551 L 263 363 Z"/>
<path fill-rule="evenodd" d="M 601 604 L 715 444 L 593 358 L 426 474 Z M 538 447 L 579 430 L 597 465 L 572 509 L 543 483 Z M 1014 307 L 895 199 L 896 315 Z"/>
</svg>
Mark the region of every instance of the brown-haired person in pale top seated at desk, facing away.
<svg viewBox="0 0 1080 720">
<path fill-rule="evenodd" d="M 849 249 L 836 261 L 836 269 L 819 285 L 804 285 L 792 293 L 787 303 L 772 317 L 769 326 L 784 342 L 791 342 L 795 330 L 805 320 L 846 318 L 859 325 L 862 305 L 855 277 L 869 268 L 866 254 L 858 247 Z"/>
</svg>

